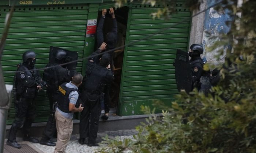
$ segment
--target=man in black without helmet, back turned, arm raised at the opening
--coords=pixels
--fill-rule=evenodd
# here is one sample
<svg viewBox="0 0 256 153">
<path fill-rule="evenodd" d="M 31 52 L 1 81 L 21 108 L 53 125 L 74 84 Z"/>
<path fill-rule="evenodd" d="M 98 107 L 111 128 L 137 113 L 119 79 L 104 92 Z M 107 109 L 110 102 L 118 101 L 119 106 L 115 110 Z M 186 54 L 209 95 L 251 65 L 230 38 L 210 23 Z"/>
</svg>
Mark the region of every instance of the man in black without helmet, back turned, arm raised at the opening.
<svg viewBox="0 0 256 153">
<path fill-rule="evenodd" d="M 102 43 L 101 49 L 93 52 L 91 55 L 97 55 L 106 49 L 106 43 Z M 79 124 L 79 143 L 84 144 L 85 138 L 88 137 L 88 146 L 97 146 L 96 137 L 99 128 L 99 116 L 101 114 L 100 95 L 107 83 L 114 79 L 110 70 L 110 55 L 103 54 L 100 62 L 94 62 L 95 56 L 88 59 L 85 81 L 82 85 L 84 110 L 80 115 Z"/>
</svg>

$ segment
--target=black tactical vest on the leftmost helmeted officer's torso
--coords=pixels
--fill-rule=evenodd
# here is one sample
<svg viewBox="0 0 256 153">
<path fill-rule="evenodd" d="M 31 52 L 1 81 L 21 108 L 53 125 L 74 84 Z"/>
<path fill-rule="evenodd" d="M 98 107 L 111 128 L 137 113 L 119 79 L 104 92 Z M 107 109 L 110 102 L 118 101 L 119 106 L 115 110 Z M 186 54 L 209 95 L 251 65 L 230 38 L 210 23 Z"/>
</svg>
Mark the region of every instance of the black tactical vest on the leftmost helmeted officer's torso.
<svg viewBox="0 0 256 153">
<path fill-rule="evenodd" d="M 32 69 L 35 69 L 35 67 L 33 67 Z M 29 69 L 24 66 L 24 65 L 20 65 L 19 68 L 17 69 L 17 71 L 25 71 L 26 75 L 29 77 L 29 79 L 31 80 L 35 80 L 35 77 L 33 76 L 33 74 L 29 71 Z M 20 73 L 16 73 L 16 78 L 17 75 L 20 75 Z M 17 94 L 18 95 L 22 95 L 22 94 L 26 94 L 26 92 L 29 92 L 28 94 L 31 94 L 30 97 L 34 97 L 35 96 L 35 90 L 36 87 L 25 87 L 19 80 L 16 79 L 16 84 L 17 84 Z"/>
</svg>

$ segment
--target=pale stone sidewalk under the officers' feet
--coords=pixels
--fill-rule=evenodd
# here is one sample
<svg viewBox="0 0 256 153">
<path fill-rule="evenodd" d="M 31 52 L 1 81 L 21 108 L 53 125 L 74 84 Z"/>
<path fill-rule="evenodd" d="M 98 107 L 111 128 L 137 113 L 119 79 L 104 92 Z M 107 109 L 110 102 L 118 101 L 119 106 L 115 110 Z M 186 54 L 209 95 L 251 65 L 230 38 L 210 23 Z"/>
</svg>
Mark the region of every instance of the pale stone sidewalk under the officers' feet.
<svg viewBox="0 0 256 153">
<path fill-rule="evenodd" d="M 101 142 L 102 141 L 102 137 L 105 137 L 106 135 L 109 136 L 109 138 L 114 138 L 114 137 L 119 137 L 121 140 L 123 140 L 124 138 L 131 138 L 133 139 L 133 135 L 136 135 L 137 131 L 132 129 L 132 130 L 118 130 L 118 131 L 110 131 L 110 132 L 102 132 L 102 133 L 98 133 L 98 137 L 97 137 L 97 142 Z M 41 137 L 38 138 L 39 140 L 41 139 Z M 80 145 L 78 143 L 78 139 L 79 139 L 79 134 L 74 134 L 71 136 L 70 141 L 68 142 L 68 146 L 66 149 L 66 153 L 95 153 L 96 149 L 98 147 L 89 147 L 86 144 L 85 145 Z M 5 139 L 5 142 L 7 141 L 7 139 Z M 46 146 L 46 145 L 40 145 L 40 144 L 33 144 L 27 141 L 22 141 L 21 138 L 17 138 L 18 143 L 20 144 L 24 144 L 25 147 L 21 148 L 21 149 L 13 149 L 12 152 L 8 151 L 8 150 L 4 150 L 4 153 L 53 153 L 54 151 L 54 146 Z M 23 145 L 22 145 L 23 146 Z M 28 152 L 27 150 L 27 146 L 29 146 L 31 149 Z M 9 147 L 8 145 L 6 145 L 5 143 L 5 148 Z M 11 148 L 12 149 L 12 148 Z M 18 152 L 17 152 L 18 151 Z"/>
</svg>

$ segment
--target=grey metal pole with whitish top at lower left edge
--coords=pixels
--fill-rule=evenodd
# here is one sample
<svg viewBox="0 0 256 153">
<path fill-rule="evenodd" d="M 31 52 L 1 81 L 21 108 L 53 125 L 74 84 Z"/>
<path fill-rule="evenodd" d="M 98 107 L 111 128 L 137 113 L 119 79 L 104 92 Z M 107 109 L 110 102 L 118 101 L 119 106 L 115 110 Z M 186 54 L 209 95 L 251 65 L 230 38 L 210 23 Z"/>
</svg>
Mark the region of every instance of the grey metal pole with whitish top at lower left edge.
<svg viewBox="0 0 256 153">
<path fill-rule="evenodd" d="M 11 97 L 12 97 L 12 85 L 5 85 L 6 91 L 9 97 L 9 102 L 7 106 L 0 107 L 0 153 L 4 152 L 4 139 L 5 139 L 5 127 L 8 109 L 11 106 Z"/>
</svg>

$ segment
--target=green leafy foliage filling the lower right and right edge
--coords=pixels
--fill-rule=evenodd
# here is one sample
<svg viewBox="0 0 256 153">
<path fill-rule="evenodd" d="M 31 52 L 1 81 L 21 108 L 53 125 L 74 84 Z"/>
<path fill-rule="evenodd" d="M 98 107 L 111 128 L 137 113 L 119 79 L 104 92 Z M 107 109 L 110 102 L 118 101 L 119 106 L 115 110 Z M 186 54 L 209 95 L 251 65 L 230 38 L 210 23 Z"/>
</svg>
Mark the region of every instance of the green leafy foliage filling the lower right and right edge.
<svg viewBox="0 0 256 153">
<path fill-rule="evenodd" d="M 191 10 L 202 2 L 186 1 Z M 209 47 L 219 48 L 219 56 L 226 52 L 225 63 L 219 67 L 218 85 L 208 95 L 196 89 L 189 94 L 181 92 L 171 108 L 157 102 L 164 110 L 162 117 L 142 106 L 150 117 L 146 124 L 136 127 L 139 133 L 135 141 L 106 138 L 108 145 L 101 152 L 256 152 L 256 64 L 252 62 L 256 54 L 256 1 L 244 0 L 241 6 L 237 0 L 218 2 L 215 9 L 228 9 L 235 19 L 226 23 L 231 26 L 230 32 L 220 35 L 219 41 Z M 234 53 L 223 45 L 232 46 Z M 240 60 L 241 55 L 244 60 Z"/>
</svg>

